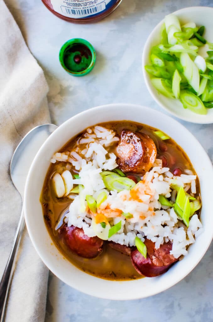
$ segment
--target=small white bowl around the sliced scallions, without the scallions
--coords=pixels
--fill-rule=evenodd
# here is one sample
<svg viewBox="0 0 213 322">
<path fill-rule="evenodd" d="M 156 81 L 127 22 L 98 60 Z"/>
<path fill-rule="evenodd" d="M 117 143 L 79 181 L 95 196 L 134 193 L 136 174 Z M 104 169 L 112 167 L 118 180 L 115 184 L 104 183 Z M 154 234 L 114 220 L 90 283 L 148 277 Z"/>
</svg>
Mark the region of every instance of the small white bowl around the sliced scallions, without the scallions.
<svg viewBox="0 0 213 322">
<path fill-rule="evenodd" d="M 184 8 L 178 11 L 173 12 L 175 14 L 181 24 L 185 24 L 187 22 L 193 21 L 198 26 L 204 25 L 206 27 L 205 30 L 205 38 L 208 42 L 213 43 L 213 8 L 210 7 L 189 7 Z M 164 20 L 162 20 L 152 31 L 149 35 L 143 51 L 143 74 L 146 86 L 153 96 L 153 99 L 163 108 L 170 112 L 172 115 L 176 116 L 177 118 L 181 118 L 188 122 L 193 123 L 202 123 L 208 124 L 213 123 L 213 109 L 208 109 L 206 115 L 199 115 L 196 113 L 191 112 L 189 109 L 184 109 L 180 100 L 178 99 L 170 99 L 168 97 L 163 96 L 160 94 L 152 85 L 150 80 L 150 75 L 145 70 L 144 66 L 149 65 L 150 62 L 150 51 L 153 46 L 160 43 L 160 31 Z M 206 48 L 206 46 L 205 46 Z M 201 52 L 202 55 L 208 56 L 204 48 Z"/>
</svg>

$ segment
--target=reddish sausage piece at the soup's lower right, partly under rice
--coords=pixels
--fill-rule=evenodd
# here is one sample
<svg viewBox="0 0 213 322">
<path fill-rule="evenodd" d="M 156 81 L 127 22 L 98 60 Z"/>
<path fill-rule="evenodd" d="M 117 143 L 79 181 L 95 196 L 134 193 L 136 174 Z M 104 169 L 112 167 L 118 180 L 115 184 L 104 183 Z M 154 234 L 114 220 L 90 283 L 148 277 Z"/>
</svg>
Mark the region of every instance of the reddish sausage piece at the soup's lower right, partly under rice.
<svg viewBox="0 0 213 322">
<path fill-rule="evenodd" d="M 144 244 L 147 248 L 146 258 L 136 248 L 131 251 L 132 264 L 141 275 L 147 277 L 158 276 L 165 273 L 178 260 L 173 255 L 170 255 L 171 242 L 164 243 L 159 249 L 156 249 L 155 244 L 149 239 L 146 239 Z"/>
</svg>

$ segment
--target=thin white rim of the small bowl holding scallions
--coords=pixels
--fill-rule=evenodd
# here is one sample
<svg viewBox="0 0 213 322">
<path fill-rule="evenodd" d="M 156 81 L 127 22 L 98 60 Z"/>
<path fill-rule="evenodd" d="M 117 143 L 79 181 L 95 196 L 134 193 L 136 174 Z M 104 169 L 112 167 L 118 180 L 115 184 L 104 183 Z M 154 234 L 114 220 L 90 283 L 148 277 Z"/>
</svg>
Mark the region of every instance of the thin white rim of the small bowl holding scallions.
<svg viewBox="0 0 213 322">
<path fill-rule="evenodd" d="M 212 11 L 212 16 L 213 16 L 213 7 L 206 7 L 206 6 L 193 6 L 193 7 L 185 7 L 179 10 L 176 10 L 174 12 L 172 12 L 171 14 L 181 14 L 181 13 L 185 13 L 187 11 L 192 12 L 192 11 L 203 11 L 203 10 L 211 10 Z M 201 14 L 201 13 L 200 13 Z M 144 80 L 145 80 L 145 84 L 146 87 L 148 88 L 151 96 L 153 97 L 153 99 L 167 112 L 169 112 L 170 114 L 172 114 L 173 116 L 175 116 L 176 118 L 180 118 L 184 121 L 190 122 L 190 123 L 197 123 L 197 124 L 211 124 L 213 123 L 213 114 L 211 116 L 211 118 L 209 118 L 209 114 L 207 115 L 199 115 L 196 113 L 193 113 L 191 111 L 190 115 L 191 117 L 197 118 L 190 120 L 188 116 L 180 116 L 178 114 L 178 112 L 173 112 L 171 109 L 167 108 L 161 101 L 161 99 L 159 99 L 159 97 L 163 96 L 162 94 L 158 93 L 157 90 L 152 86 L 152 84 L 149 83 L 150 81 L 150 76 L 147 73 L 147 71 L 145 70 L 144 66 L 146 65 L 146 60 L 147 60 L 147 56 L 149 55 L 149 47 L 150 47 L 150 43 L 152 42 L 152 38 L 153 35 L 155 33 L 158 33 L 160 31 L 160 28 L 162 26 L 164 22 L 164 19 L 162 19 L 153 29 L 153 31 L 150 33 L 150 35 L 148 36 L 145 45 L 144 45 L 144 49 L 143 49 L 143 55 L 142 55 L 142 69 L 143 69 L 143 75 L 144 75 Z M 209 109 L 210 110 L 210 109 Z M 213 112 L 213 111 L 212 111 Z M 203 117 L 203 118 L 200 118 Z"/>
</svg>

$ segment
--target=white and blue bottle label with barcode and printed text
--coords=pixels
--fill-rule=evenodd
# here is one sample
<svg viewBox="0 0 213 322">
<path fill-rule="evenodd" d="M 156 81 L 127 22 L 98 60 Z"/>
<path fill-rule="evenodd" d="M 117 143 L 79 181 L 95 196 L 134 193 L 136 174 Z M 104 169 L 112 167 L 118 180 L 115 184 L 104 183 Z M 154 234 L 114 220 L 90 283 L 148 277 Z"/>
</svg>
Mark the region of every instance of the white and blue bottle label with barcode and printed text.
<svg viewBox="0 0 213 322">
<path fill-rule="evenodd" d="M 54 11 L 69 18 L 85 18 L 103 13 L 117 0 L 51 0 Z"/>
</svg>

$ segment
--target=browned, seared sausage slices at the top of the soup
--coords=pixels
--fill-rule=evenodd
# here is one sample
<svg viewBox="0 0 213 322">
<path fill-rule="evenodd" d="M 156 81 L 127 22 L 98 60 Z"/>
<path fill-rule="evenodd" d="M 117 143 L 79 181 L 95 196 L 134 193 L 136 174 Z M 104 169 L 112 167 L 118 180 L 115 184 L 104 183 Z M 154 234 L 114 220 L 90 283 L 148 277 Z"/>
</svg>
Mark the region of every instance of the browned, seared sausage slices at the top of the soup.
<svg viewBox="0 0 213 322">
<path fill-rule="evenodd" d="M 117 147 L 118 165 L 123 172 L 145 173 L 157 155 L 153 140 L 146 134 L 123 130 Z"/>
</svg>

